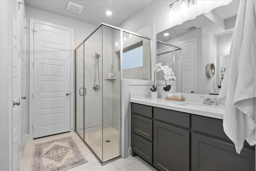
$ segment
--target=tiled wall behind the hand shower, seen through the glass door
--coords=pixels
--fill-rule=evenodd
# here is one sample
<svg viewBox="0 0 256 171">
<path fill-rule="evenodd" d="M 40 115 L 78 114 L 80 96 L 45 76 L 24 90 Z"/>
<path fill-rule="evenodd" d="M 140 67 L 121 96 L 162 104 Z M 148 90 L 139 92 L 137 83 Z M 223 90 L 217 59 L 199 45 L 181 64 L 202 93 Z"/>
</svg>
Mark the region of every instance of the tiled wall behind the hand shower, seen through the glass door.
<svg viewBox="0 0 256 171">
<path fill-rule="evenodd" d="M 101 41 L 101 35 L 94 34 L 94 36 L 91 36 L 84 44 L 84 84 L 86 87 L 84 115 L 85 133 L 102 129 L 102 87 L 98 92 L 95 92 L 92 89 L 94 85 L 94 70 L 96 65 L 95 52 L 102 57 Z M 100 78 L 102 78 L 102 58 L 99 58 L 99 71 Z M 101 79 L 100 83 L 102 84 Z"/>
</svg>

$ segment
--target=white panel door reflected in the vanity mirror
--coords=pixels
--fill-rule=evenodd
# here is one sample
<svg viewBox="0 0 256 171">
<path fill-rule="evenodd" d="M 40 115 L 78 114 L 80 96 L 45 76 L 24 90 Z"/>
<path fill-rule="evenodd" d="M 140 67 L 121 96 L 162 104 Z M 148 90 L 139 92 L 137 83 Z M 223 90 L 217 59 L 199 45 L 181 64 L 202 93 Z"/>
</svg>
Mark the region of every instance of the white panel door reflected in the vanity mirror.
<svg viewBox="0 0 256 171">
<path fill-rule="evenodd" d="M 182 48 L 182 93 L 195 93 L 195 41 L 180 44 Z"/>
</svg>

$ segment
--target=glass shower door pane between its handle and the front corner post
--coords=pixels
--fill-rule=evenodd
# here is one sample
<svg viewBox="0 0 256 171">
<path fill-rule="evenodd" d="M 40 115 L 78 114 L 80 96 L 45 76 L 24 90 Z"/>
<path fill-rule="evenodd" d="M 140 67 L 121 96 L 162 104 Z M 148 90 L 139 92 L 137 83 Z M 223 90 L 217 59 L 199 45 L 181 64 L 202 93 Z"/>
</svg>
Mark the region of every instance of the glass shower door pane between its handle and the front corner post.
<svg viewBox="0 0 256 171">
<path fill-rule="evenodd" d="M 84 42 L 84 141 L 102 161 L 102 27 Z"/>
</svg>

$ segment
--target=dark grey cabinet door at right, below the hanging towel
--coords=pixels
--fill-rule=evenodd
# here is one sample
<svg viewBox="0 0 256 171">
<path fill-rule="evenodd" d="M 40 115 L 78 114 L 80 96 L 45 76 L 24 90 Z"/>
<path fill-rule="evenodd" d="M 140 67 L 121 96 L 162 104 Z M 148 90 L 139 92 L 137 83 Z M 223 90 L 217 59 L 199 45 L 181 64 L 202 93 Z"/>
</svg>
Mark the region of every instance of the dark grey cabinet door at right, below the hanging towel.
<svg viewBox="0 0 256 171">
<path fill-rule="evenodd" d="M 234 145 L 192 133 L 192 171 L 252 171 L 255 152 L 242 149 L 236 153 Z"/>
</svg>

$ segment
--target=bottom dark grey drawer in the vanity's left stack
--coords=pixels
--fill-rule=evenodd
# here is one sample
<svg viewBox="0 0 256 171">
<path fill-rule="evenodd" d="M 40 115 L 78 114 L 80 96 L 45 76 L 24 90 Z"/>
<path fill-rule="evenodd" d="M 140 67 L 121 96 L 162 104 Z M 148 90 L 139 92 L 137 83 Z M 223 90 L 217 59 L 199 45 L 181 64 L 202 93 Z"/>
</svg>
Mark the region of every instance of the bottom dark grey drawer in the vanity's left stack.
<svg viewBox="0 0 256 171">
<path fill-rule="evenodd" d="M 132 151 L 152 164 L 152 143 L 132 133 Z"/>
</svg>

